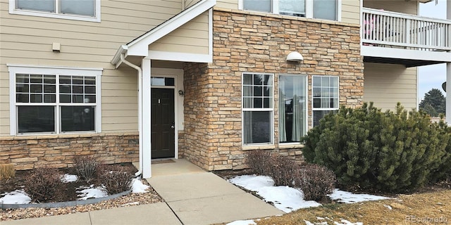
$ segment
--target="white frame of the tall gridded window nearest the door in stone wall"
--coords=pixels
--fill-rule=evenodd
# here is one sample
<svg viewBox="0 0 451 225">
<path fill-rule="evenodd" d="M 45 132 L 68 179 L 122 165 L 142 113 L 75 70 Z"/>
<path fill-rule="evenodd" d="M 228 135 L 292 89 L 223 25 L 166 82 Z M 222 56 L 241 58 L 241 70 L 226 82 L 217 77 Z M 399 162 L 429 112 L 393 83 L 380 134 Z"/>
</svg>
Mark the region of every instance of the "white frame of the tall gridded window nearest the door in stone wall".
<svg viewBox="0 0 451 225">
<path fill-rule="evenodd" d="M 243 91 L 243 86 L 244 86 L 244 76 L 245 74 L 252 74 L 252 75 L 271 75 L 273 77 L 272 80 L 272 86 L 273 86 L 273 107 L 272 108 L 244 108 L 243 107 L 243 97 L 244 97 L 244 91 Z M 245 139 L 242 137 L 241 138 L 241 143 L 243 147 L 247 147 L 247 146 L 273 146 L 274 145 L 274 91 L 276 91 L 274 89 L 274 74 L 273 73 L 266 73 L 266 72 L 242 72 L 241 74 L 241 134 L 245 134 L 245 120 L 244 120 L 244 112 L 271 112 L 271 121 L 269 122 L 271 124 L 271 141 L 268 143 L 245 143 Z"/>
</svg>

